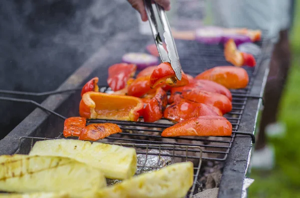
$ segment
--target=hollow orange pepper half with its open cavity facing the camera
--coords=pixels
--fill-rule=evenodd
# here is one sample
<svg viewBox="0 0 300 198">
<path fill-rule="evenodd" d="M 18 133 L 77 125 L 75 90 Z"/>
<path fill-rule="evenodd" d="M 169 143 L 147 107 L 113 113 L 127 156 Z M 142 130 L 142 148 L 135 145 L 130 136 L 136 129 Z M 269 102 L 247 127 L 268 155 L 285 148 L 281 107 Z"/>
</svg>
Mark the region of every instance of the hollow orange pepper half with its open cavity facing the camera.
<svg viewBox="0 0 300 198">
<path fill-rule="evenodd" d="M 79 114 L 89 119 L 137 121 L 142 108 L 142 100 L 136 97 L 86 92 L 79 104 Z"/>
</svg>

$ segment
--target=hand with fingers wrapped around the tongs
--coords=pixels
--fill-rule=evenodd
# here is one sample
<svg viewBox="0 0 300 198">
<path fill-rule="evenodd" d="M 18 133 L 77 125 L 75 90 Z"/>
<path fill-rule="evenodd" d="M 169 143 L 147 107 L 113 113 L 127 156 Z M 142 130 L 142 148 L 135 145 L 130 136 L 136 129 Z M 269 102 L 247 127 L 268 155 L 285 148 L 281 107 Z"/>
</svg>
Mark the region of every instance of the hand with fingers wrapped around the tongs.
<svg viewBox="0 0 300 198">
<path fill-rule="evenodd" d="M 143 0 L 127 0 L 127 1 L 131 4 L 131 6 L 134 9 L 136 9 L 139 12 L 142 21 L 148 20 Z M 170 0 L 153 0 L 153 1 L 161 5 L 165 10 L 170 10 L 171 8 Z"/>
</svg>

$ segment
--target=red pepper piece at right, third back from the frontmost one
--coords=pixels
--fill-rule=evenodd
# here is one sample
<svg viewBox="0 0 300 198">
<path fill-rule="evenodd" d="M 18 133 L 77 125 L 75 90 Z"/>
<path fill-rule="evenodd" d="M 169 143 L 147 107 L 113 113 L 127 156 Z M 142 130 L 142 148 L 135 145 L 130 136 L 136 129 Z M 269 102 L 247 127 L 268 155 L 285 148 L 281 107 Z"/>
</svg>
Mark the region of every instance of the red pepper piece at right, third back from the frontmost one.
<svg viewBox="0 0 300 198">
<path fill-rule="evenodd" d="M 218 108 L 222 114 L 228 113 L 232 109 L 231 101 L 226 96 L 219 93 L 191 89 L 183 91 L 182 97 L 197 103 L 204 103 L 208 106 L 214 106 Z"/>
</svg>

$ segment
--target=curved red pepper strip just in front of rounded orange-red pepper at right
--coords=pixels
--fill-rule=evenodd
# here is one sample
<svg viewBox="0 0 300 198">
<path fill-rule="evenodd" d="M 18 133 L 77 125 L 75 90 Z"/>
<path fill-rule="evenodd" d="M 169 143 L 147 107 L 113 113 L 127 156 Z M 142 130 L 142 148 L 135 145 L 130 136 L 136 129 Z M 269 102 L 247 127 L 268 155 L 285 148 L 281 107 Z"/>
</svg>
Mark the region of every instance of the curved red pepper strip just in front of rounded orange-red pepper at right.
<svg viewBox="0 0 300 198">
<path fill-rule="evenodd" d="M 210 80 L 194 79 L 185 86 L 171 88 L 170 92 L 171 94 L 173 94 L 175 92 L 187 91 L 192 88 L 197 88 L 199 90 L 204 90 L 213 93 L 219 93 L 226 96 L 230 101 L 232 100 L 231 92 L 226 87 Z"/>
</svg>

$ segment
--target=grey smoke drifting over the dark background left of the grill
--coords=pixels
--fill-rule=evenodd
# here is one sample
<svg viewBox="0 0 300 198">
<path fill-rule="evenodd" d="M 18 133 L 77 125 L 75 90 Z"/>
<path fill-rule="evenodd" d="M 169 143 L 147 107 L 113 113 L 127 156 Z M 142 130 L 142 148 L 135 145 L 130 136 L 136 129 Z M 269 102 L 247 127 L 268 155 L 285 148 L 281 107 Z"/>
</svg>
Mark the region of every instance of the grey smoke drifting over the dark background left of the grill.
<svg viewBox="0 0 300 198">
<path fill-rule="evenodd" d="M 136 23 L 125 0 L 1 0 L 0 89 L 54 90 L 109 37 Z M 0 101 L 0 137 L 33 109 Z"/>
</svg>

